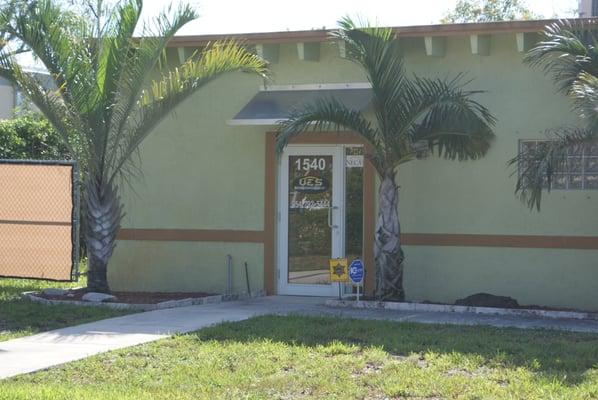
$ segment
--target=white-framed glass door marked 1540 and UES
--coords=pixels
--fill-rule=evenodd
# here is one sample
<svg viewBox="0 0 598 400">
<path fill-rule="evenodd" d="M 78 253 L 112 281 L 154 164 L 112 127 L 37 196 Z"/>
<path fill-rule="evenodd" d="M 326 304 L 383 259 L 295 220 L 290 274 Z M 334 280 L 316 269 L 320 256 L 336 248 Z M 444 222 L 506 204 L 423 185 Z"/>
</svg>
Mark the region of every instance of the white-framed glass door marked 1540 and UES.
<svg viewBox="0 0 598 400">
<path fill-rule="evenodd" d="M 344 254 L 343 146 L 288 146 L 281 157 L 278 293 L 334 296 L 330 258 Z"/>
</svg>

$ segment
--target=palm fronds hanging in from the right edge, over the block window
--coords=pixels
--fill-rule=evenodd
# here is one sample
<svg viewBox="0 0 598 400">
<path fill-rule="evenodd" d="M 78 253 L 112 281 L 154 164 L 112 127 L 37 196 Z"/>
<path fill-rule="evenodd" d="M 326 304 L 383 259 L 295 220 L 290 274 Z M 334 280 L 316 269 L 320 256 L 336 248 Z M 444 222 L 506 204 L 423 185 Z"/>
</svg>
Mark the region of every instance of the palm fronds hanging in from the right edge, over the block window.
<svg viewBox="0 0 598 400">
<path fill-rule="evenodd" d="M 596 21 L 560 21 L 546 27 L 543 40 L 524 62 L 551 75 L 559 91 L 573 101 L 583 127 L 548 132 L 547 141 L 520 152 L 509 161 L 518 167 L 515 193 L 530 208 L 540 210 L 542 192 L 550 191 L 555 173 L 566 171 L 567 156 L 598 141 L 598 38 Z"/>
</svg>

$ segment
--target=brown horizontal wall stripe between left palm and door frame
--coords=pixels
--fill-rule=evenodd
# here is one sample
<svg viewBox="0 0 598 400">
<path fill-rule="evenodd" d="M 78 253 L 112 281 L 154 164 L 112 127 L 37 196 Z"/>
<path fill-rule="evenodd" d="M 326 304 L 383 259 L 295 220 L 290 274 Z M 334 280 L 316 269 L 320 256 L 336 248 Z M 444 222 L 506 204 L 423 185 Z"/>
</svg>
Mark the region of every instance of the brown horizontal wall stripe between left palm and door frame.
<svg viewBox="0 0 598 400">
<path fill-rule="evenodd" d="M 263 231 L 208 229 L 121 229 L 118 240 L 155 240 L 166 242 L 264 242 Z"/>
</svg>

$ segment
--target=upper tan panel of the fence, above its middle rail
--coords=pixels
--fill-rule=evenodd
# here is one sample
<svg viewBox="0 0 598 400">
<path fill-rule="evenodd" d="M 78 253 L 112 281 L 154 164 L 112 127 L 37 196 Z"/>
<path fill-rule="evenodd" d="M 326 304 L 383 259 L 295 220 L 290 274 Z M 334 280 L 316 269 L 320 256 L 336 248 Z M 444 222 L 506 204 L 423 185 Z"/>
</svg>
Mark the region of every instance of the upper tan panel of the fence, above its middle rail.
<svg viewBox="0 0 598 400">
<path fill-rule="evenodd" d="M 70 222 L 72 167 L 0 164 L 0 220 Z"/>
</svg>

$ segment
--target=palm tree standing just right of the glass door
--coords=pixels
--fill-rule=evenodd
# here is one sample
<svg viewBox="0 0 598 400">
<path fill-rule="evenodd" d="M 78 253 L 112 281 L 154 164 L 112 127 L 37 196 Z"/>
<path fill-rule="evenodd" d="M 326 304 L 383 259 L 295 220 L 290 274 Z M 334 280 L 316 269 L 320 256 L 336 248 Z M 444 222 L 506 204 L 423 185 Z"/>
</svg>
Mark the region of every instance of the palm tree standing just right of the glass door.
<svg viewBox="0 0 598 400">
<path fill-rule="evenodd" d="M 367 157 L 381 179 L 374 239 L 376 296 L 403 300 L 403 251 L 398 218 L 396 173 L 416 158 L 416 145 L 447 159 L 482 157 L 494 137 L 494 117 L 465 90 L 461 75 L 450 79 L 409 77 L 398 41 L 390 29 L 358 27 L 339 21 L 336 39 L 347 58 L 359 65 L 372 85 L 373 120 L 334 98 L 320 98 L 294 110 L 281 122 L 278 149 L 306 130 L 348 130 L 369 146 Z"/>
</svg>

